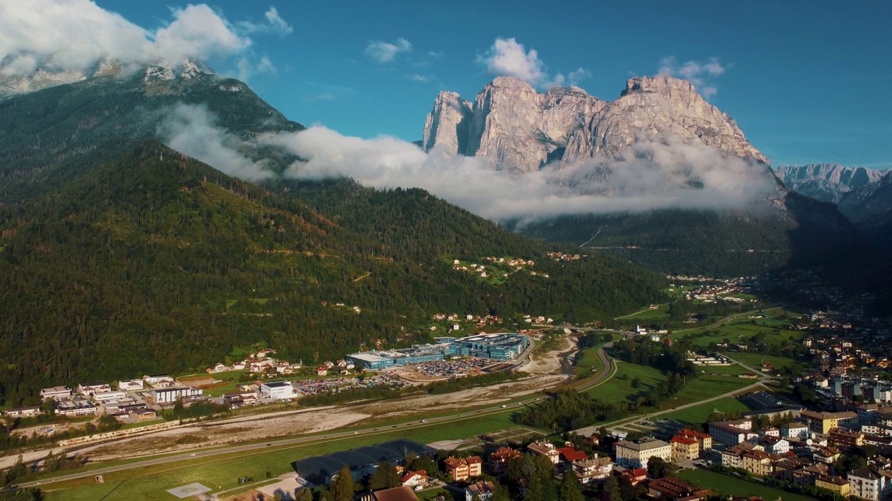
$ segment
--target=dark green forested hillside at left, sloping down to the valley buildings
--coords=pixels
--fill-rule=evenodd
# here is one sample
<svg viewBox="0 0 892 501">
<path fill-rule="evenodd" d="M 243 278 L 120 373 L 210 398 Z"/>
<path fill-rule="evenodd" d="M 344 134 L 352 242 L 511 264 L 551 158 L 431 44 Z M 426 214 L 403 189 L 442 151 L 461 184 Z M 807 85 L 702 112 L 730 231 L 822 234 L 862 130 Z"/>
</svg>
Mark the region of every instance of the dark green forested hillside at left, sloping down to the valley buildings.
<svg viewBox="0 0 892 501">
<path fill-rule="evenodd" d="M 659 300 L 664 284 L 615 258 L 550 260 L 559 247 L 421 190 L 265 189 L 154 142 L 44 172 L 0 207 L 0 395 L 12 404 L 51 384 L 198 369 L 257 341 L 305 363 L 419 341 L 436 312 L 591 321 Z M 493 284 L 448 264 L 486 256 L 534 260 L 549 278 Z"/>
</svg>

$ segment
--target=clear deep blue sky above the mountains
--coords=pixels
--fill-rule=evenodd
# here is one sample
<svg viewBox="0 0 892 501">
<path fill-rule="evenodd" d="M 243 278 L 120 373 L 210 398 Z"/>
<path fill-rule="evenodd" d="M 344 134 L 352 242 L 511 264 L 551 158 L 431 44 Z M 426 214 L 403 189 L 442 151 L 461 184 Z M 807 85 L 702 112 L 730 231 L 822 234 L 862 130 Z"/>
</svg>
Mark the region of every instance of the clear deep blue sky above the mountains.
<svg viewBox="0 0 892 501">
<path fill-rule="evenodd" d="M 186 8 L 96 4 L 147 30 Z M 207 5 L 250 41 L 236 56 L 211 58 L 220 73 L 246 78 L 289 119 L 344 135 L 420 139 L 437 93 L 473 99 L 495 76 L 484 60 L 496 40 L 513 38 L 539 70 L 540 88 L 573 74 L 590 94 L 612 100 L 626 78 L 662 68 L 711 88 L 710 102 L 775 165 L 892 167 L 888 2 Z"/>
</svg>

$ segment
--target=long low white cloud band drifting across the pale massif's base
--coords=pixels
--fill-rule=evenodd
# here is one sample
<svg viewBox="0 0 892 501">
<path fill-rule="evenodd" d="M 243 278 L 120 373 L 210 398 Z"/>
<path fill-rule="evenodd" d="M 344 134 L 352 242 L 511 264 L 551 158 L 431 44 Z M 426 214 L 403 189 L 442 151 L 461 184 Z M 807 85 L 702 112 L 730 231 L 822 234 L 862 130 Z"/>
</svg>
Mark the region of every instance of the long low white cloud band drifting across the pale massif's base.
<svg viewBox="0 0 892 501">
<path fill-rule="evenodd" d="M 174 116 L 160 129 L 171 147 L 236 177 L 268 177 L 262 162 L 238 152 L 237 140 L 216 127 L 206 109 L 180 105 Z M 326 127 L 260 136 L 257 141 L 303 159 L 286 169 L 286 177 L 352 177 L 376 188 L 424 188 L 494 220 L 529 222 L 651 209 L 752 211 L 776 193 L 764 166 L 672 138 L 633 144 L 618 159 L 549 165 L 525 175 L 475 157 L 450 157 L 436 149 L 426 153 L 393 137 L 361 139 Z"/>
</svg>

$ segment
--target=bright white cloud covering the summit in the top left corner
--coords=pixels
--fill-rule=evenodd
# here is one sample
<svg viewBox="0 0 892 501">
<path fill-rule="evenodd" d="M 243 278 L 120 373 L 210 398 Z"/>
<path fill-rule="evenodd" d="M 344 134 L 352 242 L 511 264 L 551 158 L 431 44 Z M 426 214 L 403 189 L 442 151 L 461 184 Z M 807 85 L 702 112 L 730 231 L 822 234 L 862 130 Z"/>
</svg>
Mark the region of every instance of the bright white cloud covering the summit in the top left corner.
<svg viewBox="0 0 892 501">
<path fill-rule="evenodd" d="M 39 68 L 88 72 L 103 60 L 125 66 L 163 59 L 244 60 L 254 57 L 250 33 L 292 30 L 275 8 L 261 23 L 231 23 L 206 4 L 171 8 L 170 14 L 166 25 L 145 29 L 89 0 L 0 3 L 0 76 L 29 77 Z M 240 63 L 244 68 L 250 62 Z"/>
</svg>

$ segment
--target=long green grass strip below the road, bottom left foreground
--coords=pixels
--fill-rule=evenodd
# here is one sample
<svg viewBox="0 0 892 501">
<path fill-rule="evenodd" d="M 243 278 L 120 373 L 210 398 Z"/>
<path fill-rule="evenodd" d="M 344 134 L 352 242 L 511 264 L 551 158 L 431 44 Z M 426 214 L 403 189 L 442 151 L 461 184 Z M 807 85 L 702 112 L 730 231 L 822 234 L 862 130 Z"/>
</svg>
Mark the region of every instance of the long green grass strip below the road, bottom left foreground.
<svg viewBox="0 0 892 501">
<path fill-rule="evenodd" d="M 474 417 L 452 423 L 435 423 L 418 426 L 412 431 L 381 431 L 374 435 L 346 437 L 342 439 L 320 439 L 319 442 L 299 447 L 268 448 L 256 453 L 235 453 L 214 458 L 196 458 L 173 464 L 162 464 L 138 470 L 108 473 L 105 483 L 95 484 L 92 478 L 73 480 L 64 484 L 54 484 L 45 491 L 45 498 L 66 501 L 94 501 L 96 499 L 134 500 L 174 500 L 167 489 L 199 482 L 217 491 L 238 488 L 238 478 L 252 477 L 253 480 L 267 478 L 267 472 L 276 476 L 290 472 L 290 463 L 301 457 L 317 456 L 359 446 L 376 444 L 390 439 L 407 437 L 422 443 L 441 439 L 457 439 L 477 436 L 511 426 L 513 411 L 494 415 Z M 59 489 L 65 487 L 68 489 Z"/>
</svg>

